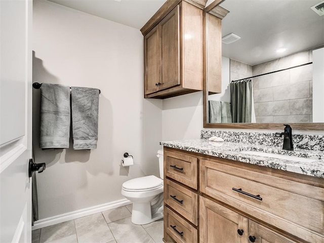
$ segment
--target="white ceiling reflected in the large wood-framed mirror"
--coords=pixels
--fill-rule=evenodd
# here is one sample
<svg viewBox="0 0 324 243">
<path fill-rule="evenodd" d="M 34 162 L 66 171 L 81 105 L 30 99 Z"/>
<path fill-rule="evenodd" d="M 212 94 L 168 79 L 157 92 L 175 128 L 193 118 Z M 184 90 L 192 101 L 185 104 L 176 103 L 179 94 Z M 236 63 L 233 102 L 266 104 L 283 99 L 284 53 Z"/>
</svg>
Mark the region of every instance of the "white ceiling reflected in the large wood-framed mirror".
<svg viewBox="0 0 324 243">
<path fill-rule="evenodd" d="M 222 21 L 222 36 L 241 38 L 223 44 L 222 55 L 255 65 L 324 45 L 324 15 L 310 7 L 323 0 L 225 0 L 230 11 Z M 277 53 L 279 48 L 286 52 Z"/>
</svg>

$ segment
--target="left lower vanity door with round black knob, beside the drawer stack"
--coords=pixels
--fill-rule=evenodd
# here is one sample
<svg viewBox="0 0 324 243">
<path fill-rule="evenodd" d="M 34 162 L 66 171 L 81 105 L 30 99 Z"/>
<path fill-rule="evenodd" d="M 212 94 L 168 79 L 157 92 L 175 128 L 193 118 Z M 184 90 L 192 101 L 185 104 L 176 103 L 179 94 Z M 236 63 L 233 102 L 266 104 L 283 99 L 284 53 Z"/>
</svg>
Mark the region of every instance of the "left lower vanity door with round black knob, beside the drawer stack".
<svg viewBox="0 0 324 243">
<path fill-rule="evenodd" d="M 199 242 L 248 243 L 248 219 L 199 196 Z"/>
</svg>

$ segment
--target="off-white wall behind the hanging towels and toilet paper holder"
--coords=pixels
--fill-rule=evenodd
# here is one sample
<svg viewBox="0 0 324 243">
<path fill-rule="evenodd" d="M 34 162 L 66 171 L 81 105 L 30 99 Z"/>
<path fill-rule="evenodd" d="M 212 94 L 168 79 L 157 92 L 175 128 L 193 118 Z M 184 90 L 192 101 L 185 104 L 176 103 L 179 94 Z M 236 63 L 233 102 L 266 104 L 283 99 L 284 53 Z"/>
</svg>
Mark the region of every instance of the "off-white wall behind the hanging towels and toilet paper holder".
<svg viewBox="0 0 324 243">
<path fill-rule="evenodd" d="M 33 82 L 101 90 L 98 147 L 41 150 L 39 90 L 33 90 L 33 147 L 39 219 L 124 197 L 123 182 L 158 176 L 162 101 L 143 98 L 143 36 L 117 24 L 47 1 L 33 6 Z M 197 131 L 199 130 L 196 129 Z M 120 167 L 124 152 L 135 165 Z"/>
</svg>

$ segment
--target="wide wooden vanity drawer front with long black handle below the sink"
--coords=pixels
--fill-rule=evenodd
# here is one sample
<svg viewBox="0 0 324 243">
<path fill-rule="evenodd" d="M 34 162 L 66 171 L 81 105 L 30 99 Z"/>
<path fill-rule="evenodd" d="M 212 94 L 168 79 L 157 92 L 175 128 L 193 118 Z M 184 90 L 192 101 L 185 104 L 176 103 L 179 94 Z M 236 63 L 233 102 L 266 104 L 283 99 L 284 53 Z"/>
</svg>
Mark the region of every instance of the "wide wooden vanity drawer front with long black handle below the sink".
<svg viewBox="0 0 324 243">
<path fill-rule="evenodd" d="M 262 168 L 199 163 L 201 192 L 294 235 L 287 222 L 324 234 L 324 188 L 262 174 Z"/>
</svg>

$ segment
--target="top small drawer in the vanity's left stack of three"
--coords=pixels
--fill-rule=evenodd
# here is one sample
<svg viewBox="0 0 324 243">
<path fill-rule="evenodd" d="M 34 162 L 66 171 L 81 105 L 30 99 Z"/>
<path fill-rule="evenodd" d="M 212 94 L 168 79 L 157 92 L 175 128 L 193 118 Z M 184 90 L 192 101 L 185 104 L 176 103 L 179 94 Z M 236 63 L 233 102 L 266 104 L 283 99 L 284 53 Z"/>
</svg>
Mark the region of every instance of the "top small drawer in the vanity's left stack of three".
<svg viewBox="0 0 324 243">
<path fill-rule="evenodd" d="M 165 150 L 164 165 L 165 176 L 197 189 L 197 158 Z"/>
</svg>

